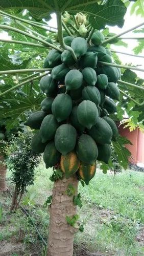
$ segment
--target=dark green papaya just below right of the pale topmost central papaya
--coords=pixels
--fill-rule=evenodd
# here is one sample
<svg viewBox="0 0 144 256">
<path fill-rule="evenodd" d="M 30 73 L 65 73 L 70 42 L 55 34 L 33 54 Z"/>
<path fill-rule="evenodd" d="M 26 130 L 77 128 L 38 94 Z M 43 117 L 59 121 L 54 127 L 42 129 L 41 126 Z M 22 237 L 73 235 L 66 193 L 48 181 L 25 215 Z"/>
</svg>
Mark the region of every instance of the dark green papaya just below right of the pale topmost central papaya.
<svg viewBox="0 0 144 256">
<path fill-rule="evenodd" d="M 84 54 L 79 61 L 80 66 L 82 69 L 90 67 L 95 68 L 98 62 L 98 53 L 97 52 L 87 52 Z"/>
</svg>

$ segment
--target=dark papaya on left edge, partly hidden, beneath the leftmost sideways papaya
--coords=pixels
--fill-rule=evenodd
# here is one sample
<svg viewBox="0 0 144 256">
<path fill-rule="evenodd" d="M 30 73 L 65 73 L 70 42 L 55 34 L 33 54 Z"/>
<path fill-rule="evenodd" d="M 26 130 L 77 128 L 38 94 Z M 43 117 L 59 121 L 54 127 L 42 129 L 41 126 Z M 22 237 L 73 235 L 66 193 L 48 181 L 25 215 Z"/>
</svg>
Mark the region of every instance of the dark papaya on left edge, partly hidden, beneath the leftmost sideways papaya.
<svg viewBox="0 0 144 256">
<path fill-rule="evenodd" d="M 41 154 L 44 152 L 46 145 L 47 143 L 41 142 L 41 136 L 38 131 L 32 139 L 32 151 L 36 154 Z"/>
</svg>

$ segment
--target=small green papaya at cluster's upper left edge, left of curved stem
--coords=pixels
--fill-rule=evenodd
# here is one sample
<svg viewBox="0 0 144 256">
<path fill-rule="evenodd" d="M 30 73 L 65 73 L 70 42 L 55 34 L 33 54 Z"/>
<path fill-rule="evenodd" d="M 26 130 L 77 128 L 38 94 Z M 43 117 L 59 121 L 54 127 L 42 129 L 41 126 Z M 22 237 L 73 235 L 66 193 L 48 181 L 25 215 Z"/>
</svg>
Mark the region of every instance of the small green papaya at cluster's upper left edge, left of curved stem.
<svg viewBox="0 0 144 256">
<path fill-rule="evenodd" d="M 61 64 L 61 53 L 55 49 L 52 49 L 47 55 L 47 60 L 49 61 L 49 66 L 54 68 Z"/>
</svg>

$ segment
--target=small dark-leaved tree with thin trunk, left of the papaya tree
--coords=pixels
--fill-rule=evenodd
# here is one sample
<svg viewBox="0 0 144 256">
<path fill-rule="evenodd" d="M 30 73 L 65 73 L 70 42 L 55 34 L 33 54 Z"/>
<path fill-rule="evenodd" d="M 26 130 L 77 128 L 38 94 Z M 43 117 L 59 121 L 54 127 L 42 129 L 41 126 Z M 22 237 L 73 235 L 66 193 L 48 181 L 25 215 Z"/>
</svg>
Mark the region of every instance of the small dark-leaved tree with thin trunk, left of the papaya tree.
<svg viewBox="0 0 144 256">
<path fill-rule="evenodd" d="M 11 211 L 17 208 L 27 186 L 33 184 L 34 170 L 40 162 L 39 155 L 31 149 L 32 136 L 31 131 L 19 132 L 18 137 L 14 137 L 7 145 L 7 163 L 12 172 L 12 183 L 15 185 Z"/>
</svg>

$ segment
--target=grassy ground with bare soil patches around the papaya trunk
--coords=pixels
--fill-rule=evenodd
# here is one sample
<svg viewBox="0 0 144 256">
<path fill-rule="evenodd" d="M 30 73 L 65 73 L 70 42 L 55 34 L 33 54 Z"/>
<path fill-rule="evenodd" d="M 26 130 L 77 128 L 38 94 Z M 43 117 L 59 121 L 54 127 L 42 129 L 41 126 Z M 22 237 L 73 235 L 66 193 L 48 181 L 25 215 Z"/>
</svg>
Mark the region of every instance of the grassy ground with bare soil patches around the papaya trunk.
<svg viewBox="0 0 144 256">
<path fill-rule="evenodd" d="M 52 169 L 43 164 L 21 205 L 46 241 L 49 214 L 43 204 L 52 194 L 49 180 Z M 8 187 L 13 191 L 8 172 Z M 114 176 L 98 169 L 89 186 L 79 184 L 83 206 L 78 211 L 84 232 L 75 237 L 74 256 L 143 255 L 143 184 L 144 174 L 133 170 Z M 9 192 L 0 195 L 0 256 L 46 255 L 31 220 L 17 209 L 10 214 Z"/>
</svg>

